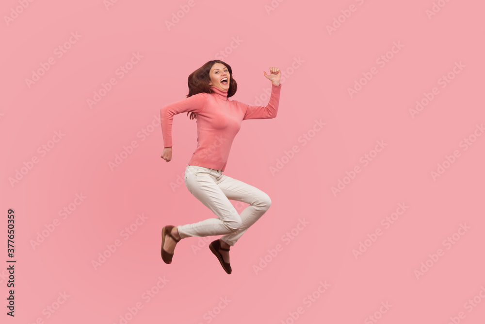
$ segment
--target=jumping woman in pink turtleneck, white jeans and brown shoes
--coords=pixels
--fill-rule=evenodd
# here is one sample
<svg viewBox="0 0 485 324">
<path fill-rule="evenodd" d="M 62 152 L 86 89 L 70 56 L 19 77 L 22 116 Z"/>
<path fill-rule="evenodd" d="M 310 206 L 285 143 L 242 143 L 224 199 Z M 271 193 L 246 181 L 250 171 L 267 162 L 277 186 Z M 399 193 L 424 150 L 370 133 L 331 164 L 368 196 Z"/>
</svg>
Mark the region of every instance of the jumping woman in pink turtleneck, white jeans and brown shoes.
<svg viewBox="0 0 485 324">
<path fill-rule="evenodd" d="M 270 207 L 271 199 L 263 191 L 230 178 L 226 169 L 232 141 L 244 119 L 275 118 L 278 111 L 281 71 L 270 67 L 264 76 L 272 82 L 268 105 L 250 106 L 229 101 L 237 90 L 231 67 L 223 61 L 212 60 L 195 70 L 188 78 L 187 98 L 161 109 L 164 149 L 162 159 L 172 159 L 172 121 L 176 114 L 191 113 L 196 118 L 197 148 L 185 169 L 185 186 L 192 195 L 207 206 L 218 218 L 186 225 L 166 225 L 162 229 L 162 259 L 172 262 L 175 246 L 180 239 L 191 236 L 223 235 L 210 243 L 226 273 L 232 272 L 229 261 L 230 246 Z M 229 202 L 237 200 L 249 204 L 239 215 Z"/>
</svg>

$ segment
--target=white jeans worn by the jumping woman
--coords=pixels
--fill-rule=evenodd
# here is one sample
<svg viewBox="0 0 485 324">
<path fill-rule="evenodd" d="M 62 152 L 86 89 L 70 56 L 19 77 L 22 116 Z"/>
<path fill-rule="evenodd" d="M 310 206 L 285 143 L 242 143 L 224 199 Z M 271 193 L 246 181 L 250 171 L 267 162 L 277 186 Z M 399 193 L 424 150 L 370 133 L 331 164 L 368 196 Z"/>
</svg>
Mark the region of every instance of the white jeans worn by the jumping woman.
<svg viewBox="0 0 485 324">
<path fill-rule="evenodd" d="M 188 165 L 185 186 L 195 198 L 218 218 L 193 224 L 178 225 L 180 237 L 224 235 L 221 239 L 234 246 L 242 234 L 271 206 L 270 197 L 263 191 L 222 174 L 220 170 Z M 238 214 L 229 202 L 237 200 L 249 204 Z"/>
</svg>

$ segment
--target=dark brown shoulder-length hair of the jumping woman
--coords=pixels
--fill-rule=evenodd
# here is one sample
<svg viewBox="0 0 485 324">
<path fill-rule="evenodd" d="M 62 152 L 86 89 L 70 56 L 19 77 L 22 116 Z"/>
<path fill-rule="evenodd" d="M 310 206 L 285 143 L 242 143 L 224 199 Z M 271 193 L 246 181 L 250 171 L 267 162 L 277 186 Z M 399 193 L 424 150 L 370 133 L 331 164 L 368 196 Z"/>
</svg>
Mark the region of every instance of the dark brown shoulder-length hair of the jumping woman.
<svg viewBox="0 0 485 324">
<path fill-rule="evenodd" d="M 212 66 L 216 63 L 224 64 L 226 68 L 229 70 L 229 90 L 227 90 L 227 98 L 234 96 L 234 94 L 238 89 L 238 84 L 232 76 L 232 68 L 226 62 L 223 62 L 221 60 L 212 60 L 207 62 L 200 68 L 196 69 L 194 72 L 192 72 L 189 75 L 189 78 L 187 80 L 187 85 L 189 85 L 189 94 L 187 95 L 186 98 L 189 98 L 190 96 L 193 96 L 201 92 L 205 92 L 205 93 L 213 92 L 209 85 L 209 82 L 210 82 L 209 73 Z M 189 113 L 190 113 L 190 119 L 197 118 L 194 112 L 188 112 L 187 116 L 189 116 Z"/>
</svg>

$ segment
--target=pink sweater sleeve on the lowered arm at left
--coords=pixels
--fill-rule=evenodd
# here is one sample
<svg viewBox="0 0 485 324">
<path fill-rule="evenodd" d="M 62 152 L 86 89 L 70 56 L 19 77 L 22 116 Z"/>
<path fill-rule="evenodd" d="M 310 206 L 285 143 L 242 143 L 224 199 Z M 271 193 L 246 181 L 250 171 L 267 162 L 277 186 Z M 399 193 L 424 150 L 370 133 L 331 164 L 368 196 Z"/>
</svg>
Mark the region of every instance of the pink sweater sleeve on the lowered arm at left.
<svg viewBox="0 0 485 324">
<path fill-rule="evenodd" d="M 208 99 L 207 96 L 208 94 L 205 92 L 197 93 L 184 100 L 169 103 L 160 109 L 164 147 L 172 146 L 172 122 L 174 115 L 183 112 L 200 113 L 205 108 Z"/>
</svg>

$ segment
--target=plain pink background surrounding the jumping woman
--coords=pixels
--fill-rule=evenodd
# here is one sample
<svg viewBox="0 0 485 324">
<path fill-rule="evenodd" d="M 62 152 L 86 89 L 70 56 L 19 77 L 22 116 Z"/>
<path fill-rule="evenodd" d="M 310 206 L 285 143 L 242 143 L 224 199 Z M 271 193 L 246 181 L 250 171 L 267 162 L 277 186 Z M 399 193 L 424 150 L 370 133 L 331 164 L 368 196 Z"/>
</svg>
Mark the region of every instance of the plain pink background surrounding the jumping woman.
<svg viewBox="0 0 485 324">
<path fill-rule="evenodd" d="M 483 1 L 435 1 L 430 17 L 432 0 L 1 7 L 0 232 L 5 241 L 14 209 L 17 260 L 15 318 L 6 315 L 0 271 L 2 323 L 484 323 Z M 132 53 L 143 57 L 120 78 Z M 55 64 L 27 85 L 49 58 Z M 249 104 L 268 101 L 263 70 L 286 74 L 277 117 L 244 121 L 231 149 L 225 174 L 272 199 L 231 249 L 231 275 L 210 253 L 215 238 L 182 240 L 170 265 L 160 256 L 162 226 L 214 217 L 177 184 L 196 147 L 194 120 L 175 117 L 170 163 L 160 157 L 158 124 L 160 108 L 184 99 L 188 75 L 214 58 L 233 69 L 233 99 Z M 370 73 L 351 97 L 348 89 Z M 447 74 L 453 79 L 443 83 Z M 90 108 L 111 78 L 116 84 Z M 413 118 L 410 109 L 433 88 Z M 318 132 L 315 119 L 325 123 Z M 311 140 L 299 141 L 303 134 Z M 132 141 L 131 154 L 110 168 Z M 375 155 L 377 141 L 387 145 Z M 433 178 L 447 156 L 453 163 Z M 278 159 L 285 163 L 272 174 Z M 25 174 L 12 185 L 17 171 Z M 345 188 L 334 194 L 339 180 Z M 385 225 L 396 211 L 402 215 Z M 137 214 L 146 219 L 132 225 Z M 309 224 L 298 229 L 303 219 Z M 32 246 L 43 230 L 49 236 Z M 285 238 L 291 231 L 297 235 Z M 356 257 L 361 242 L 368 247 Z M 11 259 L 5 245 L 1 269 Z M 109 257 L 95 269 L 103 252 Z M 322 283 L 330 285 L 324 292 Z M 146 290 L 156 293 L 148 300 Z"/>
</svg>

